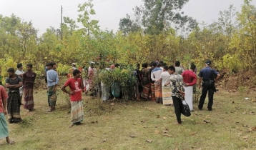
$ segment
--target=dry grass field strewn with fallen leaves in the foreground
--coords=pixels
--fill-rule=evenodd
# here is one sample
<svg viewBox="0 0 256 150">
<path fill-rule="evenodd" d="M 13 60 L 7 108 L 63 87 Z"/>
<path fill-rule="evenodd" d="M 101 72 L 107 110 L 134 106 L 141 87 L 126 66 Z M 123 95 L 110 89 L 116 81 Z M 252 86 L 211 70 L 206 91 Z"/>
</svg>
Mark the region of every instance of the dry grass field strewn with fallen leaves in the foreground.
<svg viewBox="0 0 256 150">
<path fill-rule="evenodd" d="M 70 124 L 67 96 L 58 92 L 56 111 L 48 113 L 46 91 L 34 94 L 35 111 L 21 109 L 23 122 L 9 124 L 16 143 L 0 149 L 256 149 L 255 95 L 215 94 L 213 111 L 195 111 L 176 125 L 174 108 L 152 101 L 100 102 L 84 96 L 82 125 Z M 249 97 L 249 100 L 245 100 Z M 207 103 L 207 100 L 206 100 Z"/>
</svg>

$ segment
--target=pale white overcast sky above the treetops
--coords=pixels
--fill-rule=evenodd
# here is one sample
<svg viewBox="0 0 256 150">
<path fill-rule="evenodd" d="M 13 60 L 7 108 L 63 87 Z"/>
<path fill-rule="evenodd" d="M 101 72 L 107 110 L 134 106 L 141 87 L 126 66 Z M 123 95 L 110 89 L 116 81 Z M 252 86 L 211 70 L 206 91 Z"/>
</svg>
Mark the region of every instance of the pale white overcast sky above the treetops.
<svg viewBox="0 0 256 150">
<path fill-rule="evenodd" d="M 69 16 L 77 21 L 77 5 L 86 0 L 0 0 L 0 14 L 11 16 L 15 14 L 24 21 L 32 21 L 33 26 L 43 34 L 49 26 L 59 28 L 61 20 L 61 5 L 63 16 Z M 134 6 L 142 5 L 142 0 L 94 0 L 96 15 L 93 19 L 99 20 L 101 29 L 119 28 L 119 20 L 126 14 L 133 14 Z M 192 16 L 200 23 L 205 21 L 211 24 L 217 21 L 220 11 L 227 10 L 233 4 L 237 11 L 243 0 L 190 0 L 184 8 L 184 14 Z M 252 3 L 256 5 L 256 0 Z"/>
</svg>

